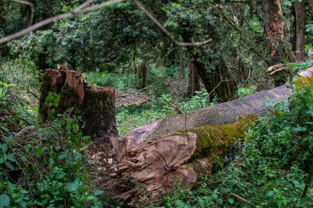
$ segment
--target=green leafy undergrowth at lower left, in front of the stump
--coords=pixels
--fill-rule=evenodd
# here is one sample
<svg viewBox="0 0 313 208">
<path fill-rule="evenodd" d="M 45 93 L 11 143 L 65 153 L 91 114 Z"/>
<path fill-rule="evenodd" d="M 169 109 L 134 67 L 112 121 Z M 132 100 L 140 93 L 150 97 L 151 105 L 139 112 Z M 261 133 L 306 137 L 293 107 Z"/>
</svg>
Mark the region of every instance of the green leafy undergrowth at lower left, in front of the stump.
<svg viewBox="0 0 313 208">
<path fill-rule="evenodd" d="M 102 207 L 103 191 L 89 179 L 90 142 L 80 132 L 81 118 L 72 109 L 51 110 L 51 122 L 43 123 L 18 92 L 1 82 L 0 208 Z M 50 94 L 46 105 L 57 104 Z"/>
</svg>

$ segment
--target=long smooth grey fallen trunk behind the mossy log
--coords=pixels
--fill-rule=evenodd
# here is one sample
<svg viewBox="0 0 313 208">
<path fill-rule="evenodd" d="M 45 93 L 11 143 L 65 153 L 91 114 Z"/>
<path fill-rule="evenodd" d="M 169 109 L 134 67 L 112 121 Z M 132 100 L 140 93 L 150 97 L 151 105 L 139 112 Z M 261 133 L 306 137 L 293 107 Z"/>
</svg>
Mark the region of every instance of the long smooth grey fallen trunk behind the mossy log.
<svg viewBox="0 0 313 208">
<path fill-rule="evenodd" d="M 299 75 L 302 77 L 312 76 L 313 67 L 301 71 Z M 135 128 L 113 141 L 113 153 L 117 155 L 117 161 L 120 162 L 131 149 L 170 132 L 203 125 L 230 124 L 237 122 L 240 115 L 264 115 L 268 111 L 268 107 L 263 104 L 278 103 L 291 96 L 291 88 L 288 86 L 289 83 L 285 83 L 282 86 L 260 91 L 244 98 L 191 111 L 187 115 L 157 120 Z"/>
</svg>

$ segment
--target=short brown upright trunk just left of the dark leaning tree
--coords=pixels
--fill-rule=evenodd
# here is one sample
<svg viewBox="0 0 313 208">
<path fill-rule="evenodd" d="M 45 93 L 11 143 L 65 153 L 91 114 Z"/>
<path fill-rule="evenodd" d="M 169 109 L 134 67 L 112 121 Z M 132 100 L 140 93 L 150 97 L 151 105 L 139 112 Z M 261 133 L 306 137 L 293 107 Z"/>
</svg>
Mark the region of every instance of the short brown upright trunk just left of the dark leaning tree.
<svg viewBox="0 0 313 208">
<path fill-rule="evenodd" d="M 188 58 L 188 87 L 187 94 L 194 95 L 196 91 L 200 91 L 200 77 L 198 71 L 192 61 L 191 56 Z"/>
</svg>

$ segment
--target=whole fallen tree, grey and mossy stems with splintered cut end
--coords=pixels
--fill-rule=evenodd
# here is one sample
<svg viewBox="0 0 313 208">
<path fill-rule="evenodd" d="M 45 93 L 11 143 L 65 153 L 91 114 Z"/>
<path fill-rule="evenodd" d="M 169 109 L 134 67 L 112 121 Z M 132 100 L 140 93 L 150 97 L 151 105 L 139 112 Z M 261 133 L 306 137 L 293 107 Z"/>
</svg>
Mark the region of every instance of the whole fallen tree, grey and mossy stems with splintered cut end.
<svg viewBox="0 0 313 208">
<path fill-rule="evenodd" d="M 312 83 L 313 67 L 301 71 L 299 74 L 302 76 L 302 82 Z M 132 200 L 134 202 L 136 198 L 139 198 L 140 202 L 146 202 L 156 200 L 160 194 L 171 192 L 175 181 L 181 187 L 193 187 L 198 174 L 211 173 L 216 156 L 223 160 L 229 147 L 243 136 L 249 125 L 254 121 L 255 114 L 264 114 L 268 110 L 262 106 L 263 103 L 266 101 L 280 102 L 291 96 L 291 89 L 287 86 L 288 84 L 285 84 L 272 90 L 259 92 L 256 93 L 257 96 L 256 94 L 247 96 L 237 100 L 237 102 L 231 101 L 215 105 L 215 108 L 212 106 L 194 111 L 194 113 L 212 113 L 213 118 L 206 114 L 199 115 L 200 119 L 197 117 L 191 118 L 190 115 L 189 118 L 188 115 L 176 116 L 170 118 L 174 126 L 161 125 L 164 124 L 162 122 L 168 121 L 168 119 L 165 119 L 161 122 L 154 122 L 153 125 L 146 125 L 149 128 L 143 128 L 145 131 L 136 130 L 135 141 L 132 141 L 133 137 L 122 137 L 116 140 L 114 150 L 120 162 L 114 166 L 116 176 L 124 179 L 131 178 L 140 182 L 134 183 L 134 187 L 122 186 L 123 188 L 119 188 L 119 190 L 123 193 L 117 197 L 124 201 Z M 222 114 L 224 110 L 228 113 L 227 115 Z M 252 113 L 252 115 L 239 116 L 248 113 Z M 227 120 L 228 118 L 229 120 Z M 177 120 L 174 123 L 175 119 Z M 184 123 L 184 119 L 189 120 L 189 122 L 196 121 L 197 123 L 194 125 L 200 126 L 189 130 L 180 127 L 181 124 L 179 123 Z M 208 119 L 208 121 L 205 121 L 205 119 Z M 238 121 L 236 122 L 236 120 Z M 224 125 L 201 125 L 207 122 L 231 123 L 232 121 L 235 122 Z M 151 126 L 154 127 L 151 128 Z M 154 131 L 156 128 L 161 129 Z M 150 139 L 153 137 L 152 134 L 150 134 L 151 137 L 147 137 L 148 130 L 152 130 L 156 135 L 156 132 L 164 129 L 173 129 L 173 131 L 154 139 Z M 163 131 L 164 134 L 165 132 Z M 146 143 L 138 143 L 138 140 L 145 141 L 141 137 L 146 139 Z M 138 189 L 142 186 L 147 190 L 144 195 L 142 192 L 138 192 Z"/>
</svg>

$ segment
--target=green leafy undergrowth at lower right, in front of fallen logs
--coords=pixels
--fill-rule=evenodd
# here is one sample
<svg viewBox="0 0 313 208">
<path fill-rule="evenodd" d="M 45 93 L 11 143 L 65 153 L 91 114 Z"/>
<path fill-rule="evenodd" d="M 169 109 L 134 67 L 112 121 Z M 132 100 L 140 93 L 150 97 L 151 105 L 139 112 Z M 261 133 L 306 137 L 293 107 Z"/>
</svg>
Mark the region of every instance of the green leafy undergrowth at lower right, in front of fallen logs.
<svg viewBox="0 0 313 208">
<path fill-rule="evenodd" d="M 213 176 L 202 176 L 193 190 L 176 182 L 155 206 L 313 207 L 312 181 L 307 181 L 313 159 L 312 91 L 307 86 L 287 101 L 267 104 L 272 112 L 252 125 L 224 163 L 215 164 Z"/>
</svg>

